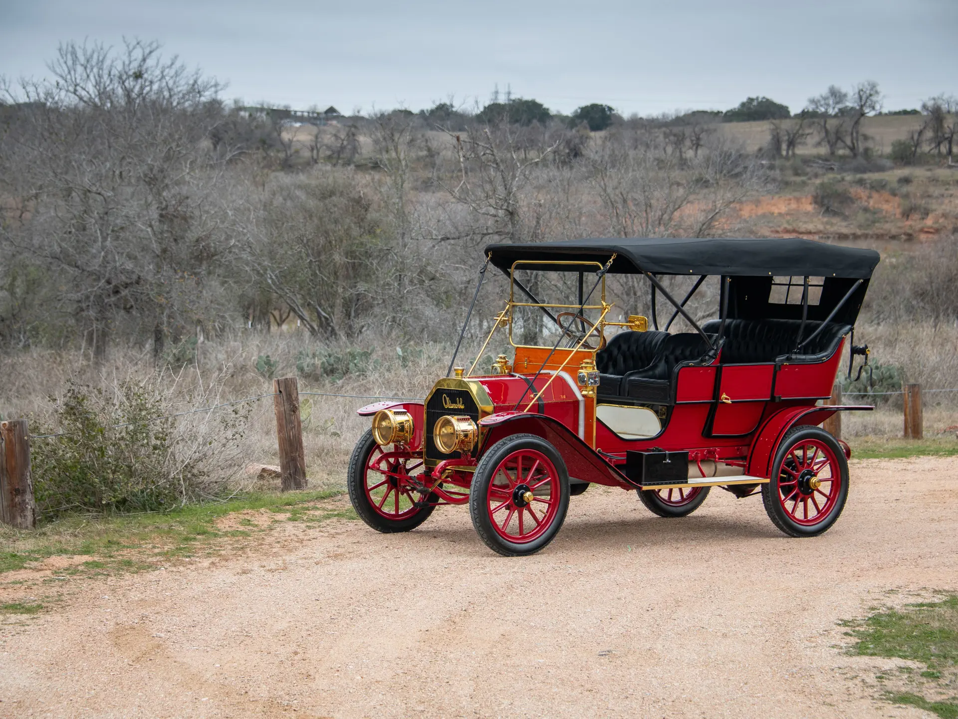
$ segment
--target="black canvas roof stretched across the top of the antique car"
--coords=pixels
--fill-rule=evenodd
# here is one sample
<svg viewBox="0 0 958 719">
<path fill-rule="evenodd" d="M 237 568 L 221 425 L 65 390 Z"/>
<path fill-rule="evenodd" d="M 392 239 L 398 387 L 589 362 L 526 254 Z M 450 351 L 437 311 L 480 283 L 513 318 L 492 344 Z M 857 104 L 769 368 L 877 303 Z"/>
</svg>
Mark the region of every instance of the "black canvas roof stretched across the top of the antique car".
<svg viewBox="0 0 958 719">
<path fill-rule="evenodd" d="M 878 265 L 878 252 L 873 249 L 800 238 L 590 238 L 556 243 L 490 244 L 486 252 L 491 255 L 492 264 L 506 272 L 517 260 L 604 264 L 613 253 L 617 253 L 617 257 L 609 271 L 619 274 L 646 271 L 653 274 L 869 279 Z"/>
</svg>

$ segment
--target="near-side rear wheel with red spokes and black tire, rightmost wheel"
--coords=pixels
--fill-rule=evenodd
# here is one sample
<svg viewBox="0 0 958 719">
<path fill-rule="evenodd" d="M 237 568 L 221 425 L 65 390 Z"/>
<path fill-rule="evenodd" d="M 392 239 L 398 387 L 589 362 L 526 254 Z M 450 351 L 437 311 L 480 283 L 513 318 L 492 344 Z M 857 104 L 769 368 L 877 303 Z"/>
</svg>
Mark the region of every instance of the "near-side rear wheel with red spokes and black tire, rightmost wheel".
<svg viewBox="0 0 958 719">
<path fill-rule="evenodd" d="M 824 429 L 789 430 L 763 485 L 765 511 L 786 534 L 807 537 L 828 529 L 848 497 L 848 462 Z"/>
</svg>

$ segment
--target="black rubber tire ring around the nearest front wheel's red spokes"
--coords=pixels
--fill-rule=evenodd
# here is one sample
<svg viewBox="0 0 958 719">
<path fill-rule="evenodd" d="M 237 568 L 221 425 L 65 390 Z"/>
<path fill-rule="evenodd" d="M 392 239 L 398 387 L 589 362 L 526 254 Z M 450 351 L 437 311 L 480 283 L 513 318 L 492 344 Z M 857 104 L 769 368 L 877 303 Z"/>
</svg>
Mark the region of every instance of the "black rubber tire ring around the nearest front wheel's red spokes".
<svg viewBox="0 0 958 719">
<path fill-rule="evenodd" d="M 516 544 L 509 542 L 501 537 L 492 527 L 486 499 L 489 495 L 489 485 L 492 481 L 492 474 L 495 472 L 499 463 L 507 455 L 516 450 L 529 449 L 542 452 L 552 462 L 559 475 L 559 508 L 556 517 L 549 528 L 532 542 Z M 569 509 L 569 473 L 565 468 L 565 462 L 562 455 L 551 444 L 546 442 L 536 434 L 513 434 L 511 437 L 500 439 L 492 445 L 488 452 L 483 454 L 482 459 L 472 475 L 472 486 L 469 488 L 469 516 L 472 518 L 472 526 L 475 527 L 476 534 L 479 535 L 486 546 L 492 551 L 501 554 L 504 557 L 519 557 L 529 554 L 535 554 L 544 548 L 559 533 L 562 522 L 565 522 L 565 513 Z"/>
</svg>

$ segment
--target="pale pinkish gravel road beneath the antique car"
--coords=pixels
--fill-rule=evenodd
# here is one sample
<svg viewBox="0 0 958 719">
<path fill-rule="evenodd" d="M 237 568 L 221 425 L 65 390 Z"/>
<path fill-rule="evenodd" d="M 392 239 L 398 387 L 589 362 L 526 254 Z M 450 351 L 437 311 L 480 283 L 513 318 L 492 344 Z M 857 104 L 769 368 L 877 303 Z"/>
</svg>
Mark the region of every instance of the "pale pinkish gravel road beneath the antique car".
<svg viewBox="0 0 958 719">
<path fill-rule="evenodd" d="M 693 516 L 573 498 L 504 559 L 466 508 L 420 530 L 285 522 L 252 553 L 88 581 L 0 627 L 0 716 L 930 716 L 837 625 L 958 590 L 958 458 L 854 462 L 823 537 L 718 489 Z"/>
</svg>

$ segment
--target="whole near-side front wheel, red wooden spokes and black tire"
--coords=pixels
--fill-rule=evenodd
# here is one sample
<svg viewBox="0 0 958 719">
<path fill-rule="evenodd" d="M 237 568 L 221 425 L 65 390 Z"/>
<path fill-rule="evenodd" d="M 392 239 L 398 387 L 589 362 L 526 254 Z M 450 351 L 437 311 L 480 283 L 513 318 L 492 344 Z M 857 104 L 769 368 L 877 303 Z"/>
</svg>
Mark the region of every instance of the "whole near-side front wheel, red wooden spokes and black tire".
<svg viewBox="0 0 958 719">
<path fill-rule="evenodd" d="M 479 460 L 469 489 L 469 515 L 493 551 L 505 557 L 535 554 L 555 538 L 568 508 L 565 462 L 541 437 L 506 437 Z"/>
</svg>

